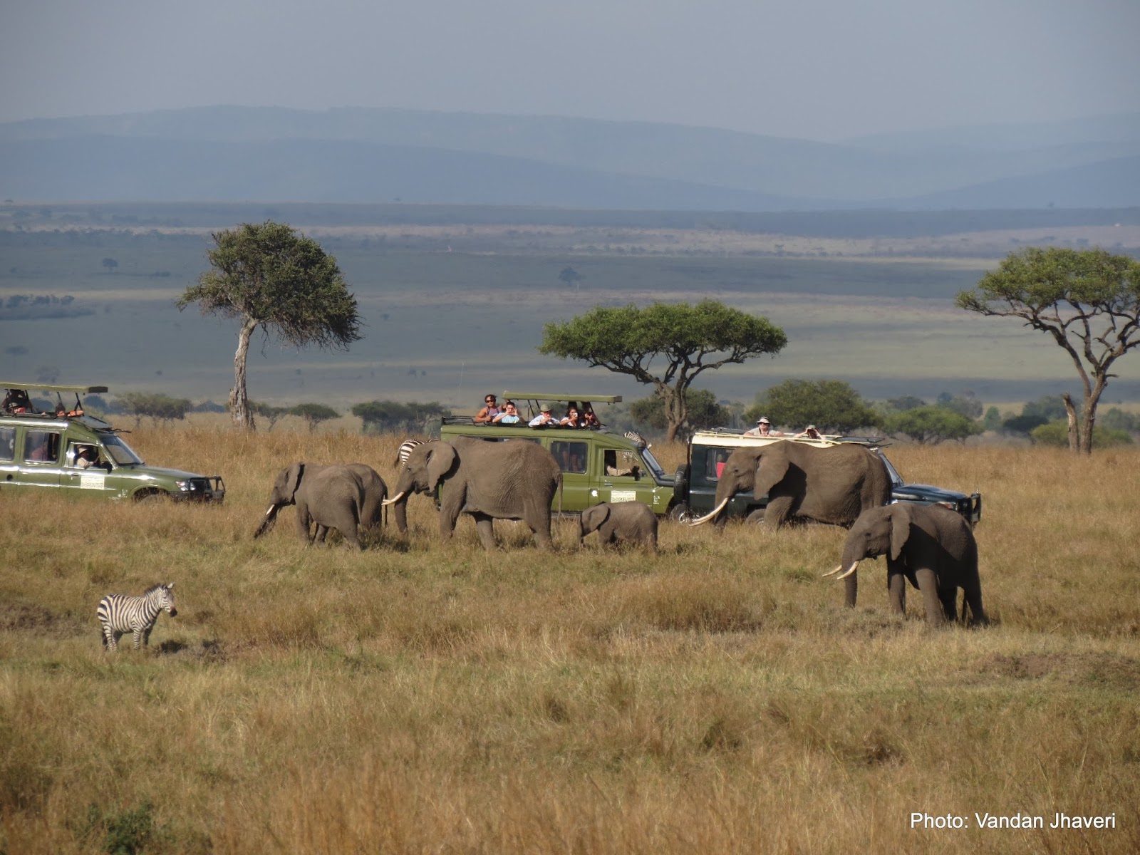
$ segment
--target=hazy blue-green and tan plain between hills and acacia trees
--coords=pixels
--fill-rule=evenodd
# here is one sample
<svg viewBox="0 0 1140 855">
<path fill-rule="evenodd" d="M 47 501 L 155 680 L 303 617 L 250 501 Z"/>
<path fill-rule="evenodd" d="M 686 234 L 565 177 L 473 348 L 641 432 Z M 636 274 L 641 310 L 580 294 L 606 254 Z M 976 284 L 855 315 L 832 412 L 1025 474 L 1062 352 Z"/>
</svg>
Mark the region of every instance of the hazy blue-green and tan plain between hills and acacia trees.
<svg viewBox="0 0 1140 855">
<path fill-rule="evenodd" d="M 6 319 L 0 308 L 0 375 L 34 380 L 54 366 L 60 381 L 225 400 L 235 321 L 173 306 L 207 269 L 210 228 L 117 228 L 105 220 L 92 228 L 50 210 L 22 221 L 8 214 L 7 223 L 0 217 L 0 303 L 16 294 L 72 295 L 73 312 L 91 314 Z M 250 394 L 339 407 L 396 398 L 463 408 L 484 391 L 523 386 L 640 397 L 646 390 L 624 376 L 539 356 L 543 325 L 597 304 L 705 298 L 765 315 L 789 337 L 774 358 L 706 374 L 699 385 L 722 398 L 751 400 L 788 377 L 847 380 L 869 398 L 967 389 L 987 402 L 1056 394 L 1077 385 L 1060 349 L 1016 321 L 960 311 L 953 296 L 1026 244 L 1107 245 L 1115 237 L 1115 251 L 1140 245 L 1140 227 L 1130 222 L 926 238 L 292 225 L 337 259 L 360 302 L 365 337 L 337 352 L 256 339 Z M 568 267 L 580 276 L 576 285 L 559 279 Z M 11 347 L 26 353 L 6 352 Z M 1121 367 L 1106 402 L 1140 399 L 1140 366 Z"/>
</svg>

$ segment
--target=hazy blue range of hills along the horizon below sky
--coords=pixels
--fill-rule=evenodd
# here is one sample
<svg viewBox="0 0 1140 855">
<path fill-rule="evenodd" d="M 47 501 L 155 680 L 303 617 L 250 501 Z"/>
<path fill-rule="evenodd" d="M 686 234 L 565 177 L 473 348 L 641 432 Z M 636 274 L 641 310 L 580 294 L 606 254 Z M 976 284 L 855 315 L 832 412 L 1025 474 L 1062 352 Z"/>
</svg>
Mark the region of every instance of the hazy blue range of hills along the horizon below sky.
<svg viewBox="0 0 1140 855">
<path fill-rule="evenodd" d="M 842 145 L 648 122 L 204 107 L 0 124 L 0 197 L 805 211 L 1140 204 L 1140 115 Z M 1082 176 L 1092 179 L 1081 185 Z M 1015 193 L 1016 192 L 1016 193 Z M 953 199 L 952 202 L 948 199 Z M 1037 204 L 1037 203 L 1034 203 Z"/>
</svg>

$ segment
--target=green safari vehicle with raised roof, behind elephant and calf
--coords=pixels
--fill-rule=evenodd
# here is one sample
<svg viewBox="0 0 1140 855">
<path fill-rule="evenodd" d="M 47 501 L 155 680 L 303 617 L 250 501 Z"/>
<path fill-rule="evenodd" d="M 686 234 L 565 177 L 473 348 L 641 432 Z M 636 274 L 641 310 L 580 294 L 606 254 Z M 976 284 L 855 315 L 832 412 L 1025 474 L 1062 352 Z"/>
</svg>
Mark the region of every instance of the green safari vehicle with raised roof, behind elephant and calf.
<svg viewBox="0 0 1140 855">
<path fill-rule="evenodd" d="M 440 427 L 440 439 L 474 437 L 488 442 L 521 439 L 537 442 L 554 455 L 562 470 L 561 510 L 579 513 L 602 502 L 644 502 L 658 515 L 665 515 L 673 504 L 673 478 L 640 437 L 613 433 L 601 426 L 530 427 L 528 422 L 538 415 L 542 401 L 561 410 L 571 402 L 616 404 L 619 394 L 540 394 L 536 392 L 504 392 L 504 400 L 520 405 L 522 421 L 518 424 L 477 424 L 470 416 L 449 416 Z M 526 407 L 521 405 L 526 402 Z M 522 412 L 526 410 L 526 412 Z M 553 507 L 559 510 L 555 496 Z"/>
</svg>

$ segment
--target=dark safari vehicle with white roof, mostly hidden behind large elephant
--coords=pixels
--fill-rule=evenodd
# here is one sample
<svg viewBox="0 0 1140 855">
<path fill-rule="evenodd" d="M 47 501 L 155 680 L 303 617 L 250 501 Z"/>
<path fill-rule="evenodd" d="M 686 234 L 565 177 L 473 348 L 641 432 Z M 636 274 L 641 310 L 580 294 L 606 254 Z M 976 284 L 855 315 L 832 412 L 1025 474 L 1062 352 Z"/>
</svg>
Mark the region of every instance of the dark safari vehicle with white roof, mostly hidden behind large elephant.
<svg viewBox="0 0 1140 855">
<path fill-rule="evenodd" d="M 947 490 L 930 484 L 906 483 L 898 470 L 882 453 L 882 440 L 874 437 L 829 437 L 820 439 L 791 437 L 746 437 L 742 431 L 728 427 L 716 427 L 710 431 L 698 431 L 689 443 L 689 462 L 677 470 L 674 477 L 677 498 L 674 516 L 686 519 L 701 516 L 712 511 L 717 481 L 724 462 L 728 459 L 734 448 L 740 446 L 766 446 L 772 442 L 803 442 L 820 448 L 840 442 L 855 442 L 878 455 L 890 474 L 890 500 L 913 502 L 919 505 L 942 505 L 956 511 L 971 524 L 982 519 L 982 494 L 967 495 L 956 490 Z M 738 492 L 730 500 L 724 513 L 731 516 L 743 516 L 752 521 L 763 520 L 763 511 L 767 505 L 767 496 L 757 499 L 751 492 Z"/>
</svg>

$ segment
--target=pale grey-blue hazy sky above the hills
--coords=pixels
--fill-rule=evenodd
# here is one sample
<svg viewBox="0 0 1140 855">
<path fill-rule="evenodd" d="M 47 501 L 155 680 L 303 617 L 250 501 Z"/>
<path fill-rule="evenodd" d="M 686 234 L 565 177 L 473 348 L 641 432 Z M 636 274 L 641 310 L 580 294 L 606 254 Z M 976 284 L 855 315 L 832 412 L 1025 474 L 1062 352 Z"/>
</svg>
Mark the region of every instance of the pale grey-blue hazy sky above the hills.
<svg viewBox="0 0 1140 855">
<path fill-rule="evenodd" d="M 236 104 L 833 140 L 1140 109 L 1140 0 L 0 0 L 0 121 Z"/>
</svg>

